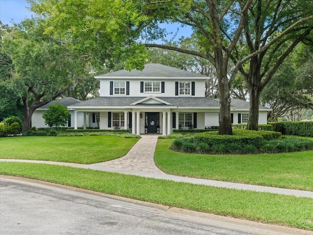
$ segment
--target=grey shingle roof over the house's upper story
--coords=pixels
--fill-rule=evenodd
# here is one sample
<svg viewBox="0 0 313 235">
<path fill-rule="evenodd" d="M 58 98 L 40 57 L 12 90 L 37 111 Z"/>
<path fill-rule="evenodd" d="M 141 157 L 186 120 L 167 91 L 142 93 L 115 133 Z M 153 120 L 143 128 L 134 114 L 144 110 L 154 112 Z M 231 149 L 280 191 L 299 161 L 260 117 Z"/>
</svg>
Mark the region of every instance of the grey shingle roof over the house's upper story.
<svg viewBox="0 0 313 235">
<path fill-rule="evenodd" d="M 206 79 L 207 76 L 201 75 L 201 74 L 196 74 L 193 72 L 185 71 L 179 68 L 173 68 L 167 65 L 163 64 L 145 64 L 145 68 L 140 71 L 140 70 L 119 70 L 119 71 L 114 71 L 111 73 L 106 73 L 102 75 L 95 76 L 95 78 L 106 78 L 106 77 L 117 77 L 117 78 L 122 78 L 122 77 L 179 77 L 179 78 L 184 78 L 184 77 L 199 77 Z"/>
</svg>

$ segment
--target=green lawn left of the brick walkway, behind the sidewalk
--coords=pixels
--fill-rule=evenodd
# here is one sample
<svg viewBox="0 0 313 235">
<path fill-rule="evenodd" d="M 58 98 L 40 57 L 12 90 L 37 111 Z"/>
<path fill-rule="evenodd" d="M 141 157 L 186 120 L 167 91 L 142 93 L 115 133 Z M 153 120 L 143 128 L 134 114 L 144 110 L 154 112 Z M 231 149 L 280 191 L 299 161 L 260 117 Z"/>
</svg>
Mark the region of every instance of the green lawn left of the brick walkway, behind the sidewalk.
<svg viewBox="0 0 313 235">
<path fill-rule="evenodd" d="M 0 158 L 92 164 L 124 156 L 138 141 L 117 136 L 0 138 Z"/>
</svg>

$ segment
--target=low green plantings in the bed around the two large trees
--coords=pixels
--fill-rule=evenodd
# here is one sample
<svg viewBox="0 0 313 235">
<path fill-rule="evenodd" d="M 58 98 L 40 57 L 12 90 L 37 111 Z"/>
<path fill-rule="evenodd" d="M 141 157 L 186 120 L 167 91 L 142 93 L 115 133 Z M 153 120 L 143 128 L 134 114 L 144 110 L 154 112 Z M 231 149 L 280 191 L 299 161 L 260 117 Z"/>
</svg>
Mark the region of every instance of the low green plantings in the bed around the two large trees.
<svg viewBox="0 0 313 235">
<path fill-rule="evenodd" d="M 234 129 L 233 135 L 218 135 L 217 131 L 209 131 L 178 138 L 173 141 L 171 149 L 211 154 L 294 152 L 313 150 L 313 140 L 285 138 L 274 131 Z"/>
</svg>

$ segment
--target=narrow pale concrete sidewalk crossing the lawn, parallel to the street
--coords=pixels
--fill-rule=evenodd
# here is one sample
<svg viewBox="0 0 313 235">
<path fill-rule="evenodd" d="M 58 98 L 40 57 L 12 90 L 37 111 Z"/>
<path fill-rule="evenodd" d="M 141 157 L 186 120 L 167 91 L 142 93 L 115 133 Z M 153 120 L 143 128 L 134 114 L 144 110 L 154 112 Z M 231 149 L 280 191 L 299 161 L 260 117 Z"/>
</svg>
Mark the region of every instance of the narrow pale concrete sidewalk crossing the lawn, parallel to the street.
<svg viewBox="0 0 313 235">
<path fill-rule="evenodd" d="M 189 177 L 176 176 L 176 175 L 170 175 L 170 174 L 160 174 L 160 173 L 154 173 L 154 172 L 108 168 L 108 167 L 102 167 L 102 166 L 96 166 L 96 165 L 85 165 L 85 164 L 66 163 L 66 162 L 37 161 L 37 160 L 19 160 L 19 159 L 0 159 L 0 162 L 24 162 L 24 163 L 40 163 L 40 164 L 49 164 L 49 165 L 68 166 L 68 167 L 76 167 L 76 168 L 83 168 L 83 169 L 90 169 L 90 170 L 97 170 L 97 171 L 108 171 L 108 172 L 115 172 L 115 173 L 120 173 L 120 174 L 130 174 L 130 175 L 137 175 L 137 176 L 142 176 L 142 177 L 147 177 L 147 178 L 164 179 L 164 180 L 171 180 L 175 182 L 185 182 L 185 183 L 206 185 L 206 186 L 213 186 L 213 187 L 220 187 L 220 188 L 248 190 L 248 191 L 254 191 L 254 192 L 269 192 L 269 193 L 283 194 L 283 195 L 289 195 L 289 196 L 293 195 L 297 197 L 313 198 L 313 192 L 311 191 L 272 188 L 272 187 L 266 187 L 266 186 L 239 184 L 239 183 L 231 183 L 231 182 L 208 180 L 208 179 L 197 179 L 197 178 L 189 178 Z"/>
</svg>

